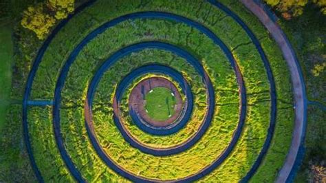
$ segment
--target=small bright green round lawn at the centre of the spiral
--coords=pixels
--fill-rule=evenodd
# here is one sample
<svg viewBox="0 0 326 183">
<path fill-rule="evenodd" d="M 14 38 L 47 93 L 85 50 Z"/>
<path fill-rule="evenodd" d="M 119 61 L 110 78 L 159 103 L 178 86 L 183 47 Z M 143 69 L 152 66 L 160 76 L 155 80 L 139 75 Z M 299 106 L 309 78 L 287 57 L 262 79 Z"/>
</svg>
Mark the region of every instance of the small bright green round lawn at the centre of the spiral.
<svg viewBox="0 0 326 183">
<path fill-rule="evenodd" d="M 145 96 L 147 114 L 153 120 L 164 121 L 174 113 L 175 96 L 166 87 L 155 87 Z"/>
</svg>

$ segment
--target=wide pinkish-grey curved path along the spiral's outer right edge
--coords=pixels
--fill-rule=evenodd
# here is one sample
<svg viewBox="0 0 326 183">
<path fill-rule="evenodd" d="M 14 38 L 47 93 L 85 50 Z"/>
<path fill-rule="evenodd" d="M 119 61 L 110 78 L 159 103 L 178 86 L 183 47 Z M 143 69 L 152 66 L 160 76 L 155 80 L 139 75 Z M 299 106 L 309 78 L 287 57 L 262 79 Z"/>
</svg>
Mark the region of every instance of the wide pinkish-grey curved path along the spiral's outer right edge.
<svg viewBox="0 0 326 183">
<path fill-rule="evenodd" d="M 273 21 L 273 17 L 270 16 L 272 13 L 268 12 L 267 8 L 264 8 L 264 5 L 261 1 L 241 0 L 241 2 L 253 14 L 255 14 L 261 23 L 265 25 L 265 28 L 268 29 L 268 32 L 270 32 L 276 43 L 281 48 L 283 57 L 285 58 L 285 61 L 290 70 L 292 90 L 296 107 L 296 117 L 294 121 L 294 131 L 290 151 L 287 154 L 285 163 L 283 164 L 282 169 L 279 171 L 279 175 L 276 180 L 276 182 L 287 182 L 288 177 L 292 176 L 291 173 L 294 173 L 292 169 L 294 169 L 294 166 L 298 164 L 296 157 L 305 138 L 307 97 L 305 94 L 305 82 L 303 80 L 303 74 L 301 73 L 301 67 L 298 63 L 296 54 L 294 53 L 290 42 L 287 40 L 284 32 L 281 30 L 279 25 Z"/>
</svg>

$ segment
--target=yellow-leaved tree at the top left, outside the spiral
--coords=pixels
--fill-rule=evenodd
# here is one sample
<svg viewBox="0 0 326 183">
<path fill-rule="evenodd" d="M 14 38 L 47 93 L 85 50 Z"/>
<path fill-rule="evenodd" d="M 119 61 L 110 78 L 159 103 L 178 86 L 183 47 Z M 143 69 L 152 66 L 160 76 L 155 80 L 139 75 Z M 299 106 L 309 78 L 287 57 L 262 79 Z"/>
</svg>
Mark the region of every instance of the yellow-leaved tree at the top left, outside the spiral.
<svg viewBox="0 0 326 183">
<path fill-rule="evenodd" d="M 74 12 L 74 0 L 47 0 L 28 7 L 23 12 L 21 25 L 32 30 L 39 39 L 45 39 L 58 20 Z"/>
</svg>

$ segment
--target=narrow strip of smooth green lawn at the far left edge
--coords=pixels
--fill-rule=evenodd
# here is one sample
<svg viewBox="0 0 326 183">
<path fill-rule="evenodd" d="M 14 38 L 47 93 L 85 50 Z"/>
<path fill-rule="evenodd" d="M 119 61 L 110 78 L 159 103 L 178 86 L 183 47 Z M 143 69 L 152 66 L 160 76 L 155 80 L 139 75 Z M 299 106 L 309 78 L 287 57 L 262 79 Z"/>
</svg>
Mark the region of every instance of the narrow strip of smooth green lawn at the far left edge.
<svg viewBox="0 0 326 183">
<path fill-rule="evenodd" d="M 12 65 L 12 39 L 10 26 L 0 25 L 0 130 L 6 119 L 9 105 Z"/>
</svg>

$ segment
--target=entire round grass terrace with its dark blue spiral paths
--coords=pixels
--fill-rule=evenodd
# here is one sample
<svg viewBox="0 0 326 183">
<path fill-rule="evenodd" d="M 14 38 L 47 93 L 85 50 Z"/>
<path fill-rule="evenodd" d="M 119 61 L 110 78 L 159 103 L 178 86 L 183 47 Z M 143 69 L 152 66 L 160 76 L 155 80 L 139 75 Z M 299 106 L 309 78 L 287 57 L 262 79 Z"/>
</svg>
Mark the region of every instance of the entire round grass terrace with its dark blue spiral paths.
<svg viewBox="0 0 326 183">
<path fill-rule="evenodd" d="M 53 105 L 23 105 L 39 181 L 274 181 L 294 126 L 290 73 L 235 2 L 98 0 L 59 24 L 24 98 Z M 132 106 L 166 122 L 177 104 L 171 88 L 129 100 L 153 77 L 182 99 L 169 125 Z"/>
</svg>

